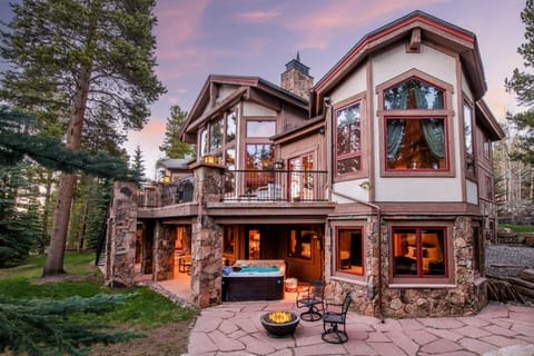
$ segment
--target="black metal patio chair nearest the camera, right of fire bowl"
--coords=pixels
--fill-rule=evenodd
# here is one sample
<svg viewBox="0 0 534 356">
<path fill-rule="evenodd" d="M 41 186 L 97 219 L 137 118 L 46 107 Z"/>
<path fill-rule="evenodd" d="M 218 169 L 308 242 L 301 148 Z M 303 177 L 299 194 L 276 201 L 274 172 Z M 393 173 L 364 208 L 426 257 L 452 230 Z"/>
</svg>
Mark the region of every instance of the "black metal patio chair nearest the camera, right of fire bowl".
<svg viewBox="0 0 534 356">
<path fill-rule="evenodd" d="M 352 301 L 353 297 L 350 296 L 350 293 L 347 293 L 343 304 L 326 303 L 325 312 L 323 313 L 324 332 L 320 335 L 324 342 L 343 344 L 348 340 L 345 322 Z M 339 325 L 342 325 L 343 328 L 340 328 Z"/>
</svg>

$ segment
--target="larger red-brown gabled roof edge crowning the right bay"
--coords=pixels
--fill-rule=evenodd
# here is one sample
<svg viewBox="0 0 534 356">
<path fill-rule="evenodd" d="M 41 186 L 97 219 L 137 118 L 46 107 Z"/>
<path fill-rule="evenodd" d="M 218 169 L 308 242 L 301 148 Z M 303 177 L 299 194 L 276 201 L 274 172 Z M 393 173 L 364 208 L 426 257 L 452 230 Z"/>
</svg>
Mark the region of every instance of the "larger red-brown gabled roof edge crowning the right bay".
<svg viewBox="0 0 534 356">
<path fill-rule="evenodd" d="M 409 40 L 415 29 L 421 31 L 421 41 L 437 43 L 459 55 L 475 99 L 482 98 L 487 87 L 476 36 L 426 12 L 414 11 L 366 34 L 314 86 L 310 96 L 312 116 L 322 111 L 325 93 L 339 83 L 355 67 L 387 46 Z"/>
</svg>

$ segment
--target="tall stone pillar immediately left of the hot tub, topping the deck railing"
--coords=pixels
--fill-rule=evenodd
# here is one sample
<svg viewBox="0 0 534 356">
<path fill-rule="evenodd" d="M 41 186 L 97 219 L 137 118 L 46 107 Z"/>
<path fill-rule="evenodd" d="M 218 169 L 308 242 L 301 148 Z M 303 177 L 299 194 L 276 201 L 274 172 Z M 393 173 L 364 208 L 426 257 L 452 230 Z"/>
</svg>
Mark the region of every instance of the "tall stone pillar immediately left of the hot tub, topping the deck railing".
<svg viewBox="0 0 534 356">
<path fill-rule="evenodd" d="M 198 217 L 191 230 L 191 298 L 199 307 L 220 304 L 222 281 L 222 235 L 207 215 L 207 204 L 222 199 L 224 167 L 195 167 L 195 199 Z"/>
</svg>

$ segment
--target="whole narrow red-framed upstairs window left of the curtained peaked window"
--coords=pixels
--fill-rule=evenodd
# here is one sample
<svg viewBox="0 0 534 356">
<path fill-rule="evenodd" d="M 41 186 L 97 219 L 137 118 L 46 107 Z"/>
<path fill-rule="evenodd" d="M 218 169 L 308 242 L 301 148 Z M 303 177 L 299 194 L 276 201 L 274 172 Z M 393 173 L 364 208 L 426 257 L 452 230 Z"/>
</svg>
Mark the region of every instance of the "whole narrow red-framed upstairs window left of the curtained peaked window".
<svg viewBox="0 0 534 356">
<path fill-rule="evenodd" d="M 336 110 L 337 176 L 362 170 L 360 102 Z"/>
</svg>

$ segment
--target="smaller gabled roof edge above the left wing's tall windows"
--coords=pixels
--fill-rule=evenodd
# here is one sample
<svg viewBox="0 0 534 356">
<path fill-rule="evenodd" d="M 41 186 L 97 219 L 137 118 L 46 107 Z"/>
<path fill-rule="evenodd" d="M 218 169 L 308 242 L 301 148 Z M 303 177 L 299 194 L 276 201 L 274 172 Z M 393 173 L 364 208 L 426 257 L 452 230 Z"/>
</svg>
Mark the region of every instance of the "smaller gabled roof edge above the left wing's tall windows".
<svg viewBox="0 0 534 356">
<path fill-rule="evenodd" d="M 210 102 L 211 98 L 211 86 L 212 85 L 230 85 L 236 86 L 236 90 L 222 101 L 217 103 L 215 107 L 209 108 L 207 111 L 206 107 Z M 283 89 L 277 85 L 271 83 L 268 80 L 265 80 L 259 77 L 245 77 L 245 76 L 222 76 L 222 75 L 210 75 L 208 76 L 206 82 L 200 90 L 200 93 L 197 97 L 191 110 L 189 111 L 186 122 L 181 128 L 178 136 L 184 138 L 186 134 L 194 134 L 197 131 L 199 125 L 204 121 L 227 110 L 228 107 L 233 106 L 243 97 L 251 99 L 254 93 L 251 90 L 257 90 L 261 93 L 268 95 L 270 97 L 277 98 L 286 103 L 298 107 L 303 110 L 308 110 L 308 100 L 290 92 L 289 90 Z M 253 99 L 254 100 L 254 99 Z"/>
</svg>

